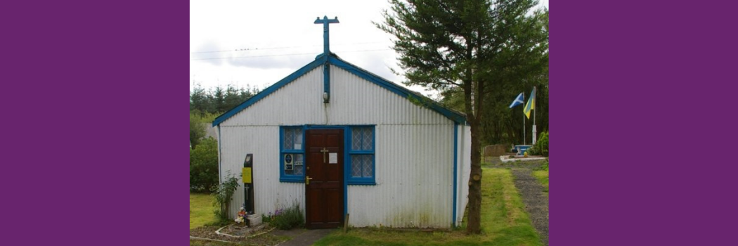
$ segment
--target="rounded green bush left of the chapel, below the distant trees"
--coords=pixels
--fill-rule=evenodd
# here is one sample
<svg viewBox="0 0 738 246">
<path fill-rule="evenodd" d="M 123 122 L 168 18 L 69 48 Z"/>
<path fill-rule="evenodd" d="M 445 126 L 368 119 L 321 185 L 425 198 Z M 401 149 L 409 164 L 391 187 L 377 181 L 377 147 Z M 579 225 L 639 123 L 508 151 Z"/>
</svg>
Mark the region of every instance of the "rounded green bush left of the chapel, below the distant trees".
<svg viewBox="0 0 738 246">
<path fill-rule="evenodd" d="M 190 149 L 190 192 L 207 192 L 218 186 L 218 143 L 212 137 Z"/>
</svg>

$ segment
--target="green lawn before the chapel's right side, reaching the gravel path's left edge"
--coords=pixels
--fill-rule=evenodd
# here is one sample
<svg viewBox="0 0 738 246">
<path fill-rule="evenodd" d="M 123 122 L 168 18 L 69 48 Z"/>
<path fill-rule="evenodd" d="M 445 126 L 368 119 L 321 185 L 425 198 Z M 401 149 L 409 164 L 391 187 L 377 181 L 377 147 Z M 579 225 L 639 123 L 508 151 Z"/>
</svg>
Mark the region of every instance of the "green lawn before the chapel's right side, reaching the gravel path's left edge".
<svg viewBox="0 0 738 246">
<path fill-rule="evenodd" d="M 314 245 L 541 245 L 507 169 L 483 168 L 482 234 L 399 231 L 387 228 L 335 230 Z M 464 221 L 466 222 L 466 216 Z"/>
</svg>

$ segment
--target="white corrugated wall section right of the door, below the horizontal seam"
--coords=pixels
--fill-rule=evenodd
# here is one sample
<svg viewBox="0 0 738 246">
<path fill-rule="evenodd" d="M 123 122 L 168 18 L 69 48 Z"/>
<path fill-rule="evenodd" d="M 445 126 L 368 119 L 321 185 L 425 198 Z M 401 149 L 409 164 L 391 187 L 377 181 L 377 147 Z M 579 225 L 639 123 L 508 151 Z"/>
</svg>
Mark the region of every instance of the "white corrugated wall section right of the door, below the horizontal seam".
<svg viewBox="0 0 738 246">
<path fill-rule="evenodd" d="M 383 125 L 376 134 L 377 184 L 348 186 L 351 225 L 448 227 L 453 127 Z"/>
</svg>

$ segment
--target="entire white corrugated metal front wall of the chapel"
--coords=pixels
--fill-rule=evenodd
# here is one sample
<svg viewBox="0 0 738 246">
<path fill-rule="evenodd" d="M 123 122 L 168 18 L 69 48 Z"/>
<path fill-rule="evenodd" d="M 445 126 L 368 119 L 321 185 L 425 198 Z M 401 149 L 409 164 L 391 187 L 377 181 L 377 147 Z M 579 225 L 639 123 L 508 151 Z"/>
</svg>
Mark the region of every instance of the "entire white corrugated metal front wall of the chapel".
<svg viewBox="0 0 738 246">
<path fill-rule="evenodd" d="M 246 153 L 254 154 L 257 213 L 294 199 L 303 207 L 304 184 L 279 182 L 279 126 L 306 124 L 376 125 L 376 185 L 348 185 L 349 224 L 451 225 L 452 120 L 336 66 L 331 103 L 323 103 L 321 66 L 221 123 L 223 170 L 239 173 Z M 236 192 L 232 214 L 244 202 L 243 190 Z"/>
</svg>

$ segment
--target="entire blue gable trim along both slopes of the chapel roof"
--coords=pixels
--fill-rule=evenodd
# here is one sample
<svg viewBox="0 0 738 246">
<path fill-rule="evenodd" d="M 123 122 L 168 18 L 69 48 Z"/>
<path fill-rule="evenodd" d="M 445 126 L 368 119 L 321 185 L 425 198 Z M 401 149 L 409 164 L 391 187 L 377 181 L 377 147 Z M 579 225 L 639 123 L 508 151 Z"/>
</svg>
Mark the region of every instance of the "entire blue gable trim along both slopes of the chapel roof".
<svg viewBox="0 0 738 246">
<path fill-rule="evenodd" d="M 241 110 L 248 108 L 252 104 L 261 100 L 262 98 L 266 98 L 266 96 L 268 96 L 269 94 L 272 94 L 272 92 L 277 91 L 277 89 L 282 88 L 286 84 L 310 72 L 312 69 L 315 69 L 316 67 L 326 64 L 326 63 L 332 64 L 334 66 L 338 66 L 342 69 L 345 69 L 346 71 L 351 72 L 352 74 L 356 76 L 359 76 L 359 78 L 363 78 L 378 86 L 382 86 L 382 88 L 388 89 L 390 90 L 390 92 L 394 92 L 403 98 L 408 98 L 408 99 L 413 98 L 415 100 L 421 100 L 423 102 L 428 102 L 427 107 L 429 109 L 432 109 L 433 111 L 438 112 L 441 115 L 444 115 L 450 120 L 453 120 L 455 123 L 466 124 L 466 117 L 464 117 L 464 115 L 461 115 L 458 112 L 454 112 L 451 109 L 446 109 L 446 107 L 441 106 L 441 104 L 436 103 L 434 100 L 431 100 L 430 98 L 426 98 L 422 95 L 415 94 L 415 92 L 409 89 L 405 89 L 404 87 L 399 86 L 396 83 L 387 81 L 384 78 L 381 78 L 378 75 L 368 72 L 365 69 L 361 69 L 358 66 L 355 66 L 354 64 L 350 64 L 347 61 L 343 61 L 340 58 L 338 58 L 337 55 L 335 55 L 334 53 L 330 53 L 330 55 L 325 55 L 325 54 L 317 55 L 317 57 L 315 57 L 315 61 L 312 61 L 311 63 L 303 66 L 302 68 L 297 69 L 297 71 L 293 72 L 291 75 L 288 75 L 287 77 L 283 78 L 282 80 L 278 81 L 272 86 L 267 87 L 263 91 L 259 92 L 257 95 L 254 95 L 252 98 L 249 98 L 249 100 L 244 101 L 244 103 L 241 103 L 238 106 L 235 106 L 235 108 L 229 110 L 228 112 L 223 113 L 223 115 L 216 117 L 215 120 L 213 120 L 213 126 L 218 126 L 220 123 L 224 122 L 228 118 L 232 117 L 238 112 L 241 112 Z"/>
</svg>

